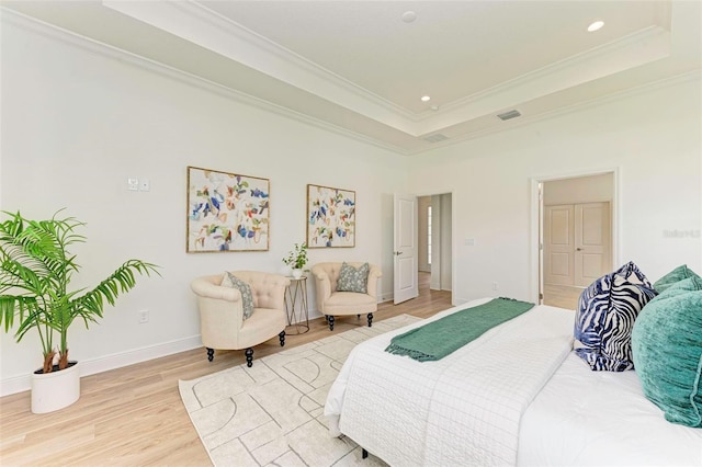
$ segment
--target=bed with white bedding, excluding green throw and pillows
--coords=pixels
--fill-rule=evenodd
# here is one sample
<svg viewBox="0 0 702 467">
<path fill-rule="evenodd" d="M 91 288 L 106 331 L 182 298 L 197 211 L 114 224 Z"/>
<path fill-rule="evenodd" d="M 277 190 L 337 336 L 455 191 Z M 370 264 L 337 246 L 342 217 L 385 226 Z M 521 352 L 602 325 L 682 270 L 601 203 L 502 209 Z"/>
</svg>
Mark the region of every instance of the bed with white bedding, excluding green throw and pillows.
<svg viewBox="0 0 702 467">
<path fill-rule="evenodd" d="M 702 466 L 702 429 L 667 422 L 634 372 L 592 372 L 573 353 L 570 310 L 536 306 L 437 362 L 358 345 L 325 414 L 389 465 Z"/>
</svg>

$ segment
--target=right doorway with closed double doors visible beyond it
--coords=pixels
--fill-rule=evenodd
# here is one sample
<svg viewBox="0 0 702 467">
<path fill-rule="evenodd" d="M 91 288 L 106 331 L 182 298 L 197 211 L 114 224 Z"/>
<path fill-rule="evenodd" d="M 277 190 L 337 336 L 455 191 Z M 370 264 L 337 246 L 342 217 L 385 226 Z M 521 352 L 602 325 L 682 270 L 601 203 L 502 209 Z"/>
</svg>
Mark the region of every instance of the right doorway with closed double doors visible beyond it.
<svg viewBox="0 0 702 467">
<path fill-rule="evenodd" d="M 615 173 L 539 182 L 540 303 L 576 309 L 592 281 L 612 270 Z"/>
</svg>

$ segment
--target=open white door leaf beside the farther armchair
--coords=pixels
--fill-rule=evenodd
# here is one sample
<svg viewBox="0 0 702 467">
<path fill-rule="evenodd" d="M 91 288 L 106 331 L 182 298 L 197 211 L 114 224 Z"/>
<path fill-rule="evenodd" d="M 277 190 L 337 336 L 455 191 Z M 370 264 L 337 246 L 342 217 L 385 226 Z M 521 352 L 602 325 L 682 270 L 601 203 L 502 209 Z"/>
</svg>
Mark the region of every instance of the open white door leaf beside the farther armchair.
<svg viewBox="0 0 702 467">
<path fill-rule="evenodd" d="M 419 295 L 417 263 L 417 196 L 395 195 L 394 281 L 395 304 Z"/>
</svg>

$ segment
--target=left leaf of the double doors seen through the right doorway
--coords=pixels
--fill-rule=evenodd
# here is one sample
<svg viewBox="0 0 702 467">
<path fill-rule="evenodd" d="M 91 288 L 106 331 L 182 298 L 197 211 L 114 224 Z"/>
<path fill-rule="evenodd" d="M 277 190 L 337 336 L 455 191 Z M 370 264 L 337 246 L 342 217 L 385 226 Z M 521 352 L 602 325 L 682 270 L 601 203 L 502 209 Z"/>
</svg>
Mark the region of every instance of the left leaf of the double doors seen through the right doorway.
<svg viewBox="0 0 702 467">
<path fill-rule="evenodd" d="M 544 283 L 575 283 L 575 208 L 571 204 L 544 208 Z"/>
</svg>

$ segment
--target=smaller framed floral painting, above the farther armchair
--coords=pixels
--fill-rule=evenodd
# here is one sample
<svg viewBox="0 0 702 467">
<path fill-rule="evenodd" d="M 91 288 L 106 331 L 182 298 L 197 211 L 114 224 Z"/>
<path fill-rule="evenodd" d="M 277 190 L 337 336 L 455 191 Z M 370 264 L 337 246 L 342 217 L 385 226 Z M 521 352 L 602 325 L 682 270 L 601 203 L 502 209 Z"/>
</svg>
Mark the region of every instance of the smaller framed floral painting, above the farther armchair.
<svg viewBox="0 0 702 467">
<path fill-rule="evenodd" d="M 355 247 L 355 192 L 307 185 L 307 247 Z"/>
</svg>

